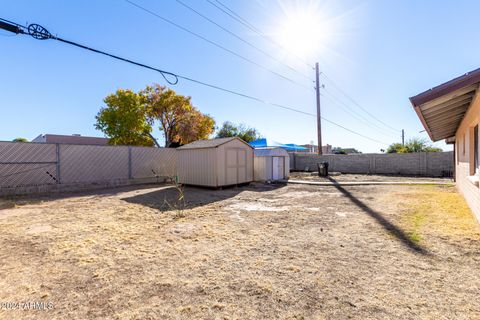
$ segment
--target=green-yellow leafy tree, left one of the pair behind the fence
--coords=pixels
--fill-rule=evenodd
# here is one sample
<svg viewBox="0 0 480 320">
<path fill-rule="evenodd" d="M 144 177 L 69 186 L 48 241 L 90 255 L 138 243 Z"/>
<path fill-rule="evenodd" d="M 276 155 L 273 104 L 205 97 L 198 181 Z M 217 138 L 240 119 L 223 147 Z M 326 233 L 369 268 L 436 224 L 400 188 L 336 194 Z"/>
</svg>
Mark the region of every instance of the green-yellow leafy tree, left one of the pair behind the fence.
<svg viewBox="0 0 480 320">
<path fill-rule="evenodd" d="M 141 95 L 119 89 L 108 95 L 104 102 L 106 107 L 98 112 L 95 128 L 110 138 L 110 144 L 153 146 L 152 124 Z"/>
</svg>

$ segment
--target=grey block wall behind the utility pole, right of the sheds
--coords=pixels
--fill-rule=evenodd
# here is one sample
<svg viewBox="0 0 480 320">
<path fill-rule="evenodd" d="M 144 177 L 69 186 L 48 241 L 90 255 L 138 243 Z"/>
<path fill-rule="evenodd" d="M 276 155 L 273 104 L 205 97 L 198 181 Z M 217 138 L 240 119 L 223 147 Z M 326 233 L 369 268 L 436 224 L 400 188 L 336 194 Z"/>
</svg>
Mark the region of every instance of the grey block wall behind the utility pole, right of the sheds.
<svg viewBox="0 0 480 320">
<path fill-rule="evenodd" d="M 290 153 L 292 170 L 316 171 L 322 161 L 329 163 L 329 171 L 360 174 L 442 177 L 451 176 L 454 167 L 452 151 L 323 156 Z"/>
</svg>

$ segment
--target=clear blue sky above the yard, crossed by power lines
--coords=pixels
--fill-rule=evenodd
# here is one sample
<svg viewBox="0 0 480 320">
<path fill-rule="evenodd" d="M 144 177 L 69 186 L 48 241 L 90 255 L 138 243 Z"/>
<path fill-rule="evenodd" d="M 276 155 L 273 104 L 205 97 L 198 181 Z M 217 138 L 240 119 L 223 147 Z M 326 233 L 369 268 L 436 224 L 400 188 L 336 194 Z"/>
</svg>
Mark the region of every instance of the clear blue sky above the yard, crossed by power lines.
<svg viewBox="0 0 480 320">
<path fill-rule="evenodd" d="M 0 1 L 1 17 L 38 23 L 60 37 L 158 68 L 190 76 L 259 98 L 315 113 L 313 83 L 243 44 L 175 0 L 132 0 L 182 26 L 312 89 L 292 84 L 195 38 L 125 1 Z M 205 0 L 183 0 L 202 14 L 241 35 L 285 64 L 312 78 L 314 71 L 234 21 Z M 322 115 L 385 143 L 427 137 L 408 97 L 476 69 L 480 43 L 478 1 L 233 1 L 225 4 L 267 34 L 274 34 L 289 10 L 311 8 L 328 29 L 320 49 L 306 57 L 364 109 L 397 131 L 386 128 L 325 85 Z M 292 10 L 293 10 L 292 9 Z M 94 129 L 103 98 L 118 88 L 140 90 L 166 84 L 160 74 L 53 40 L 11 36 L 0 31 L 0 140 L 33 139 L 40 133 L 101 136 Z M 273 140 L 316 140 L 313 117 L 180 81 L 178 93 L 192 97 L 217 124 L 245 123 Z M 328 96 L 328 97 L 327 97 Z M 336 104 L 332 101 L 340 100 Z M 342 110 L 356 111 L 357 118 Z M 348 109 L 347 109 L 348 111 Z M 351 111 L 350 111 L 351 113 Z M 361 119 L 361 121 L 359 120 Z M 161 138 L 156 130 L 155 136 Z M 323 141 L 333 146 L 378 152 L 386 145 L 323 122 Z M 449 149 L 443 142 L 438 146 Z"/>
</svg>

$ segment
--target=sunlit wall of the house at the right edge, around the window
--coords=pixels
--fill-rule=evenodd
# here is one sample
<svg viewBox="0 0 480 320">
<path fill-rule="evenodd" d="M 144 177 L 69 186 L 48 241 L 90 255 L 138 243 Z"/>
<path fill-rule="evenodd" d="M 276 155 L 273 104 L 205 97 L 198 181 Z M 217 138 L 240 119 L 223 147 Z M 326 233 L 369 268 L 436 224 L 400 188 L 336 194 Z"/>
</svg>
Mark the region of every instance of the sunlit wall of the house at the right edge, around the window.
<svg viewBox="0 0 480 320">
<path fill-rule="evenodd" d="M 473 167 L 473 128 L 479 123 L 480 98 L 477 95 L 455 136 L 455 164 L 457 188 L 463 194 L 477 220 L 480 222 L 480 189 L 468 179 L 475 172 Z"/>
</svg>

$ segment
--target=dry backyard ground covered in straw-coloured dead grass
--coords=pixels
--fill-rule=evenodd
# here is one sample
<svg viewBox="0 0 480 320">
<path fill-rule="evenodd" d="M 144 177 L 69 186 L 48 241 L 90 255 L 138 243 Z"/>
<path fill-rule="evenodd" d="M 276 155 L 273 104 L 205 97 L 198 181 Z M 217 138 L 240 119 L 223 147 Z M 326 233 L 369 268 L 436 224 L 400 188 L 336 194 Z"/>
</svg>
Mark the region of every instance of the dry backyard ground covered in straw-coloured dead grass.
<svg viewBox="0 0 480 320">
<path fill-rule="evenodd" d="M 480 318 L 452 186 L 184 191 L 0 200 L 0 319 Z"/>
</svg>

